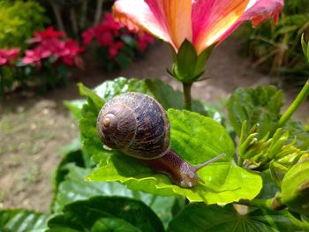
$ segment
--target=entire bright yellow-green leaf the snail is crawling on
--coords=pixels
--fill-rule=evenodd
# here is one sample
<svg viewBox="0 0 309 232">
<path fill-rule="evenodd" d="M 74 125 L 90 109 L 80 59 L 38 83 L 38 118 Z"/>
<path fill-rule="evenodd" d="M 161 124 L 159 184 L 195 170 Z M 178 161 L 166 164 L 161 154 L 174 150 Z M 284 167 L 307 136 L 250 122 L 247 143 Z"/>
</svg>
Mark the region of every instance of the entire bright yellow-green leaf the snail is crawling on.
<svg viewBox="0 0 309 232">
<path fill-rule="evenodd" d="M 186 161 L 198 164 L 226 153 L 226 157 L 199 171 L 201 181 L 192 189 L 170 183 L 168 176 L 157 174 L 137 159 L 102 149 L 96 154 L 100 162 L 87 180 L 118 181 L 132 190 L 162 196 L 183 195 L 191 201 L 227 204 L 240 198 L 254 198 L 261 189 L 261 178 L 233 162 L 234 145 L 221 124 L 189 111 L 168 111 L 171 146 Z M 112 154 L 112 155 L 111 155 Z M 109 157 L 107 159 L 106 157 Z"/>
</svg>

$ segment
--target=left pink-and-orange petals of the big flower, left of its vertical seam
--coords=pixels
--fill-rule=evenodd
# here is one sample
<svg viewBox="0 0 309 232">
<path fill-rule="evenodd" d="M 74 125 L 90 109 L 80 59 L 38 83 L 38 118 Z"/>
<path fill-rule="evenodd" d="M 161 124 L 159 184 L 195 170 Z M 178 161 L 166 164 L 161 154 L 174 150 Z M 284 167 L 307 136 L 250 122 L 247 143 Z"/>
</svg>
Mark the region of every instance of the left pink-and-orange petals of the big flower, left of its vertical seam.
<svg viewBox="0 0 309 232">
<path fill-rule="evenodd" d="M 130 30 L 146 30 L 176 50 L 192 40 L 191 0 L 118 0 L 113 11 Z"/>
</svg>

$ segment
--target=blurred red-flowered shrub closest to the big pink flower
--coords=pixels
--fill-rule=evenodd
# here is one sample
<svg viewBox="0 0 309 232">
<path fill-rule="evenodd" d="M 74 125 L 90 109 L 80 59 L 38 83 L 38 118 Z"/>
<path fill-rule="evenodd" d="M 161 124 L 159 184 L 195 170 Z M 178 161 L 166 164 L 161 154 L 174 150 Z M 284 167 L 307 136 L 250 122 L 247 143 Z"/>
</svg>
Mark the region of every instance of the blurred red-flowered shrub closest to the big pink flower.
<svg viewBox="0 0 309 232">
<path fill-rule="evenodd" d="M 141 55 L 155 40 L 150 34 L 135 34 L 106 13 L 101 24 L 82 33 L 85 46 L 93 41 L 98 59 L 107 71 L 124 68 Z"/>
</svg>

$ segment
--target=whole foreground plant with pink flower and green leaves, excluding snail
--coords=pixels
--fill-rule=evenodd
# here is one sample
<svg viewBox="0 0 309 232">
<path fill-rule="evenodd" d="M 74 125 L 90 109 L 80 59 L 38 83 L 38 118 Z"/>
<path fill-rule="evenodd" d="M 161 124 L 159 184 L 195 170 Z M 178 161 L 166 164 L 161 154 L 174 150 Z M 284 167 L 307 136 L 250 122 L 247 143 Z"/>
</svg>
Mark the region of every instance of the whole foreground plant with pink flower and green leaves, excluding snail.
<svg viewBox="0 0 309 232">
<path fill-rule="evenodd" d="M 65 105 L 79 122 L 80 138 L 64 148 L 51 213 L 2 210 L 0 228 L 308 231 L 309 131 L 292 116 L 309 95 L 309 80 L 284 111 L 283 91 L 275 86 L 238 88 L 226 101 L 228 118 L 191 95 L 221 41 L 245 20 L 253 26 L 271 18 L 277 22 L 282 9 L 283 0 L 116 1 L 115 20 L 170 43 L 170 76 L 183 84 L 183 92 L 151 79 L 117 78 L 94 89 L 79 84 L 84 99 Z M 309 63 L 305 35 L 299 42 Z M 199 182 L 184 187 L 124 150 L 111 150 L 99 137 L 97 118 L 102 106 L 128 92 L 147 94 L 162 105 L 170 120 L 170 147 L 184 161 L 197 166 L 225 156 L 200 168 Z"/>
</svg>

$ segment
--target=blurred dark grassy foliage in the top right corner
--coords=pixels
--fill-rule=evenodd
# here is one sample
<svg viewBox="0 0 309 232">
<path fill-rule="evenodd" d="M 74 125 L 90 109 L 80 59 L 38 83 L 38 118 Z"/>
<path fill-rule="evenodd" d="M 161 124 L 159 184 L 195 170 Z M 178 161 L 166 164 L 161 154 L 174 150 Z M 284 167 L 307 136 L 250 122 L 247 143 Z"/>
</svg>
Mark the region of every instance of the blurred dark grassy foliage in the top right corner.
<svg viewBox="0 0 309 232">
<path fill-rule="evenodd" d="M 283 82 L 301 86 L 309 76 L 309 64 L 305 62 L 300 37 L 309 33 L 309 1 L 285 0 L 278 25 L 273 21 L 252 29 L 243 27 L 245 50 L 252 57 L 253 67 L 267 71 L 272 83 Z"/>
</svg>

